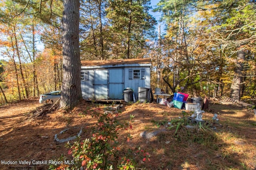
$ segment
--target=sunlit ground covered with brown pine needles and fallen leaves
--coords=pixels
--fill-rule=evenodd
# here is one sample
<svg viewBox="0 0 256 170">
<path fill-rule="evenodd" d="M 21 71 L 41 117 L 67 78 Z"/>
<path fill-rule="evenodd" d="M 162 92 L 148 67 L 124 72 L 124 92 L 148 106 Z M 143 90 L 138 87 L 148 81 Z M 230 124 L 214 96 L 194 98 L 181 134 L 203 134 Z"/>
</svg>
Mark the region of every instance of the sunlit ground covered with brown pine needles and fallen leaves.
<svg viewBox="0 0 256 170">
<path fill-rule="evenodd" d="M 76 135 L 82 128 L 82 138 L 86 138 L 90 133 L 86 129 L 97 123 L 90 115 L 81 115 L 86 107 L 93 107 L 90 102 L 83 102 L 70 113 L 58 110 L 41 117 L 32 117 L 31 111 L 42 105 L 35 98 L 0 106 L 0 170 L 46 169 L 47 165 L 44 162 L 28 166 L 19 162 L 16 164 L 15 161 L 54 160 L 61 154 L 66 155 L 66 143 L 57 143 L 54 141 L 54 135 L 69 128 L 65 133 L 58 135 L 59 139 L 66 139 Z M 256 118 L 253 110 L 212 102 L 209 111 L 203 114 L 203 119 L 211 120 L 214 113 L 218 113 L 220 119 L 221 125 L 216 125 L 216 128 L 221 131 L 221 135 L 216 134 L 220 135 L 213 139 L 216 140 L 217 149 L 210 153 L 206 150 L 208 146 L 185 141 L 183 143 L 182 137 L 174 137 L 175 129 L 164 132 L 156 140 L 145 141 L 140 137 L 143 131 L 166 129 L 166 125 L 157 126 L 156 122 L 180 117 L 180 109 L 156 103 L 124 104 L 120 117 L 129 119 L 130 114 L 135 116 L 130 146 L 142 145 L 150 150 L 153 161 L 148 164 L 140 162 L 140 167 L 165 170 L 199 170 L 209 167 L 213 170 L 256 169 Z M 180 141 L 177 142 L 177 139 Z M 172 141 L 177 145 L 168 144 Z M 178 147 L 184 149 L 177 149 Z M 10 162 L 6 161 L 14 161 L 14 164 L 8 164 Z"/>
</svg>

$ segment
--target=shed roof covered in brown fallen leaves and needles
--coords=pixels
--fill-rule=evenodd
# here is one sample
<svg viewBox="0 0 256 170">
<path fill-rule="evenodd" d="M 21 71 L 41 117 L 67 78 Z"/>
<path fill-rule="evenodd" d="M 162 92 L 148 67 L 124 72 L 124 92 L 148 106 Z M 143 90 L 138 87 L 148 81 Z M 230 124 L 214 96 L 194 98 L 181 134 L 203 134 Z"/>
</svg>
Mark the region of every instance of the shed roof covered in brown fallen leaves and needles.
<svg viewBox="0 0 256 170">
<path fill-rule="evenodd" d="M 81 61 L 81 66 L 105 66 L 105 65 L 151 65 L 151 59 L 114 59 L 114 60 L 93 60 L 93 61 Z"/>
</svg>

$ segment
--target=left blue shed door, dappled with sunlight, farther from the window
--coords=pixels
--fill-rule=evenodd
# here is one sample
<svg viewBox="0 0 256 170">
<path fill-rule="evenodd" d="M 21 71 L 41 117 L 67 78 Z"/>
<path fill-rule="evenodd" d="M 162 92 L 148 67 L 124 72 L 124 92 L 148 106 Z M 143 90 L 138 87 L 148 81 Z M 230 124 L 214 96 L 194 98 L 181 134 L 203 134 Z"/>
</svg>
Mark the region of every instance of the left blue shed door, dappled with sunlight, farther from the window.
<svg viewBox="0 0 256 170">
<path fill-rule="evenodd" d="M 96 100 L 108 100 L 108 70 L 94 71 L 94 90 Z"/>
</svg>

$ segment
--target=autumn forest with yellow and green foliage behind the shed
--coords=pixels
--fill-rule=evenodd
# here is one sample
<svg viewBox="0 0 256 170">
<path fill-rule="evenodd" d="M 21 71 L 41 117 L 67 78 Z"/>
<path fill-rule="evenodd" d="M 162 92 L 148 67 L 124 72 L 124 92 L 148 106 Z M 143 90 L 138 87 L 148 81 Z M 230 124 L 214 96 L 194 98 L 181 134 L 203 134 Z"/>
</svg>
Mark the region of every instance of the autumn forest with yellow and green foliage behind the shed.
<svg viewBox="0 0 256 170">
<path fill-rule="evenodd" d="M 63 1 L 0 2 L 0 104 L 60 90 Z M 153 88 L 255 102 L 255 1 L 161 0 L 161 26 L 150 10 L 149 0 L 81 0 L 80 59 L 150 58 Z"/>
</svg>

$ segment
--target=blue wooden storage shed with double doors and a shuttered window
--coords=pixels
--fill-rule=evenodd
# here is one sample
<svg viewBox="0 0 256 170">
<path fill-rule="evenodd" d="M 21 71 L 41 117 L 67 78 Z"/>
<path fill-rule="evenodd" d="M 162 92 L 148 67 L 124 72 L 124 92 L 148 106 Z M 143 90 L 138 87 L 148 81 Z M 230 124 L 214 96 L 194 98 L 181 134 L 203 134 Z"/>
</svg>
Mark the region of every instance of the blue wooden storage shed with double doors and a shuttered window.
<svg viewBox="0 0 256 170">
<path fill-rule="evenodd" d="M 122 100 L 124 88 L 132 88 L 138 98 L 139 87 L 150 88 L 150 66 L 150 59 L 81 61 L 82 97 L 85 100 Z"/>
</svg>

